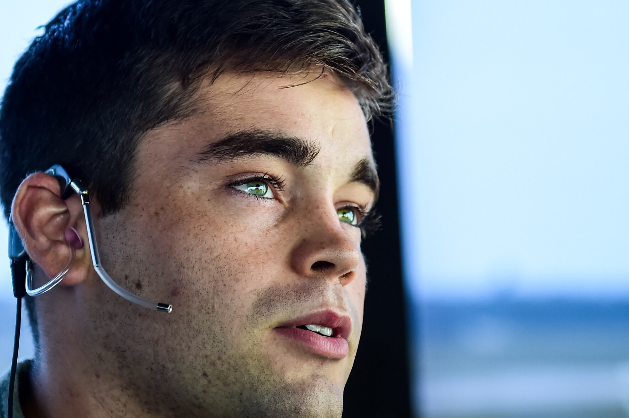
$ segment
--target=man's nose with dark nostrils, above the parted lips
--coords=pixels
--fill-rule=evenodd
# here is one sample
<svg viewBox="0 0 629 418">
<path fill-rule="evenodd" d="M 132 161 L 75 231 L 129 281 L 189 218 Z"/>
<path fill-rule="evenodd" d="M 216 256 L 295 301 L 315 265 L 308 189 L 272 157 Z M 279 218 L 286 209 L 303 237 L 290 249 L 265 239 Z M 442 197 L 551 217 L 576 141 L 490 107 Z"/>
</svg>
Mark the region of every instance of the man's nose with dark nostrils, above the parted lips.
<svg viewBox="0 0 629 418">
<path fill-rule="evenodd" d="M 309 213 L 311 222 L 299 225 L 298 242 L 292 250 L 292 269 L 303 277 L 338 280 L 345 286 L 357 275 L 360 244 L 338 220 L 334 208 Z"/>
</svg>

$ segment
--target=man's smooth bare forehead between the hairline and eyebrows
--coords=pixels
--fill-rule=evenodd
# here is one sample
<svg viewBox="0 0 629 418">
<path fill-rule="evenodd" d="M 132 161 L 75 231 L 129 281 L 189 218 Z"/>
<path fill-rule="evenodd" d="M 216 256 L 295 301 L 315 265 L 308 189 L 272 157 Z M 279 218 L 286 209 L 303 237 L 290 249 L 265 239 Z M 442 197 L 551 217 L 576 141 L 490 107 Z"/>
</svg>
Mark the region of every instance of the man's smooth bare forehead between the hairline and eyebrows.
<svg viewBox="0 0 629 418">
<path fill-rule="evenodd" d="M 327 158 L 372 158 L 360 105 L 340 80 L 329 75 L 226 73 L 204 85 L 195 104 L 196 112 L 183 125 L 206 140 L 257 129 L 307 139 Z"/>
</svg>

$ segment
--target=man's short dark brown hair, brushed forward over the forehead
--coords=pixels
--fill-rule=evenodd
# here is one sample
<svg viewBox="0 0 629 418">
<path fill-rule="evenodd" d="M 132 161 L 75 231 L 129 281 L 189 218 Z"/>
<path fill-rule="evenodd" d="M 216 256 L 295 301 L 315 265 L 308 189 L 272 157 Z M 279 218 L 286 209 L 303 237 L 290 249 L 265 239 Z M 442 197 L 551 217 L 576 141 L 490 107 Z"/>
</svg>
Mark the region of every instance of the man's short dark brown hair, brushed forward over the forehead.
<svg viewBox="0 0 629 418">
<path fill-rule="evenodd" d="M 45 25 L 4 92 L 4 215 L 19 183 L 53 164 L 114 213 L 128 200 L 143 134 L 194 114 L 201 80 L 313 69 L 352 88 L 368 119 L 387 104 L 382 55 L 347 0 L 77 1 Z"/>
</svg>

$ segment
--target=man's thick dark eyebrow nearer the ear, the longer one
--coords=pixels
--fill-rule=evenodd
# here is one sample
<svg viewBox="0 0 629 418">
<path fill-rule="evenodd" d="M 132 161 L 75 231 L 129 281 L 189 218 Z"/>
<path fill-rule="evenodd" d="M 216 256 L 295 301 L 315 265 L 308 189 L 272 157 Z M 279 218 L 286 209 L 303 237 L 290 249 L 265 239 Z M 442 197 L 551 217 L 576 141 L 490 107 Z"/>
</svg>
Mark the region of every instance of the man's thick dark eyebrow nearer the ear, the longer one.
<svg viewBox="0 0 629 418">
<path fill-rule="evenodd" d="M 196 154 L 197 163 L 220 163 L 252 156 L 275 156 L 299 168 L 312 164 L 320 147 L 303 138 L 281 132 L 252 129 L 238 131 L 204 147 Z"/>
</svg>

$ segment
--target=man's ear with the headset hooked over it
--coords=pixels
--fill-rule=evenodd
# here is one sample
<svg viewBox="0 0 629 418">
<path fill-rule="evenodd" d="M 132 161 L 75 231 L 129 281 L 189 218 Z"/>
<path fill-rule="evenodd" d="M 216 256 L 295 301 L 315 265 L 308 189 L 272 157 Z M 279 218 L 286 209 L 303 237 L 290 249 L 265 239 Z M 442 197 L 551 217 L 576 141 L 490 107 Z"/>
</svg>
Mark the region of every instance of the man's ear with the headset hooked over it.
<svg viewBox="0 0 629 418">
<path fill-rule="evenodd" d="M 26 252 L 48 277 L 57 276 L 70 257 L 67 228 L 75 228 L 84 245 L 76 250 L 74 265 L 60 284 L 74 286 L 91 270 L 87 228 L 79 196 L 62 200 L 57 179 L 49 174 L 28 176 L 13 198 L 11 217 Z"/>
</svg>

